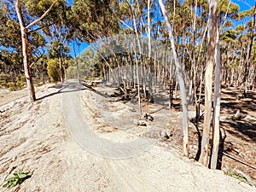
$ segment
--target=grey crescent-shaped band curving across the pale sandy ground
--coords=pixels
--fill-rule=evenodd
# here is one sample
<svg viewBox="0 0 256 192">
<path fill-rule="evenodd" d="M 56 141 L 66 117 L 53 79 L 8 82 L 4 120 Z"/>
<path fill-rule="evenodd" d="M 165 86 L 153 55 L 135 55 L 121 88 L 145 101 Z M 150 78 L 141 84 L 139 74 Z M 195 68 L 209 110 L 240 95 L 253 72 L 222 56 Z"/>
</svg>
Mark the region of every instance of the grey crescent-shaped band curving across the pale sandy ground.
<svg viewBox="0 0 256 192">
<path fill-rule="evenodd" d="M 80 90 L 81 85 L 72 81 L 68 82 L 66 88 L 61 92 L 67 128 L 75 141 L 84 149 L 98 156 L 110 159 L 124 159 L 141 154 L 156 143 L 155 139 L 147 137 L 138 137 L 133 141 L 115 143 L 96 135 L 84 121 L 80 105 Z"/>
</svg>

